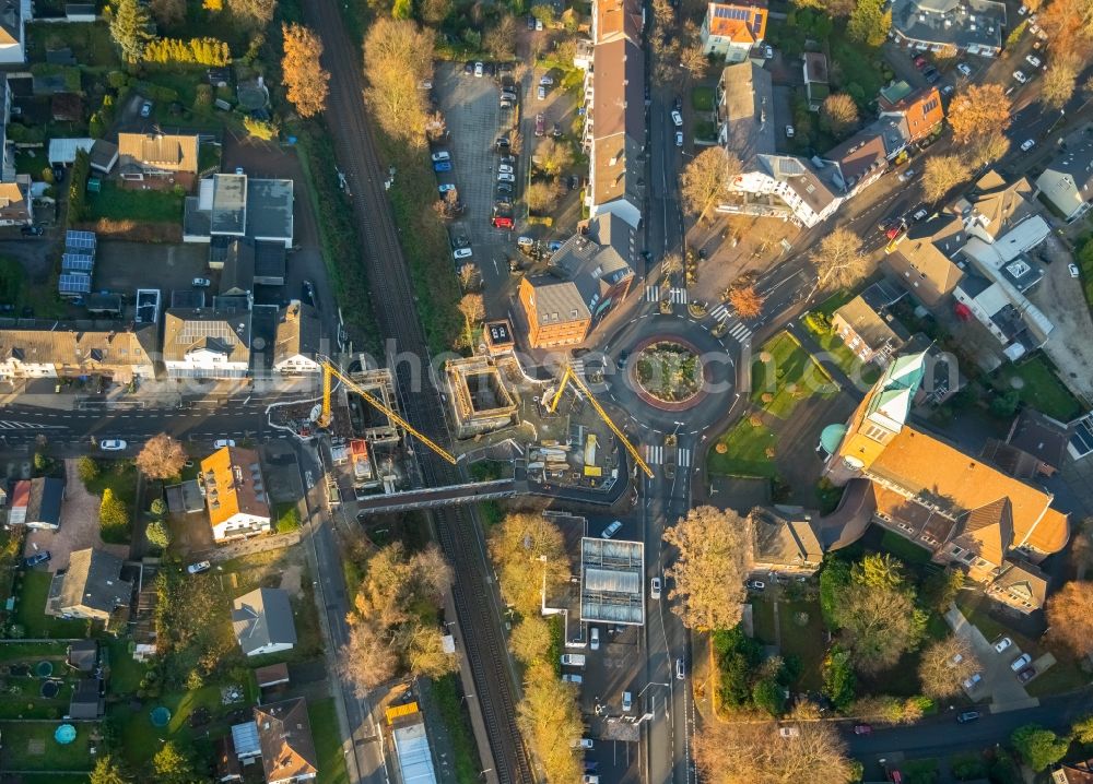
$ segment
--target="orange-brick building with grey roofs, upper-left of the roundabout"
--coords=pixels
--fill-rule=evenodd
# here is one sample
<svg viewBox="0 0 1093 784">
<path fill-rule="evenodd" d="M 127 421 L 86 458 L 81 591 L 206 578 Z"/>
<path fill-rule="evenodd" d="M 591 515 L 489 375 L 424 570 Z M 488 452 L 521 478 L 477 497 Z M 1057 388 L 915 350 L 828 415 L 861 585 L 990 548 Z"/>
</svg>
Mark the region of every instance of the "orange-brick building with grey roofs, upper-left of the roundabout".
<svg viewBox="0 0 1093 784">
<path fill-rule="evenodd" d="M 622 216 L 599 215 L 554 252 L 546 274 L 526 276 L 519 298 L 530 346 L 584 341 L 630 293 L 637 241 Z"/>
</svg>

